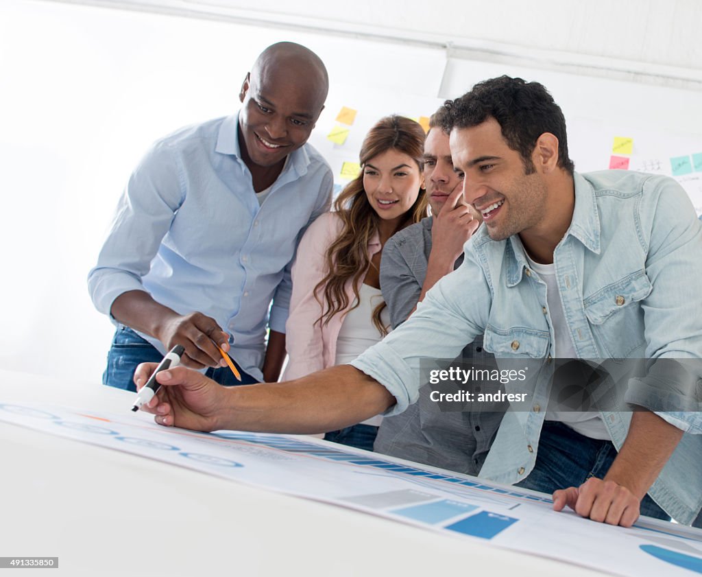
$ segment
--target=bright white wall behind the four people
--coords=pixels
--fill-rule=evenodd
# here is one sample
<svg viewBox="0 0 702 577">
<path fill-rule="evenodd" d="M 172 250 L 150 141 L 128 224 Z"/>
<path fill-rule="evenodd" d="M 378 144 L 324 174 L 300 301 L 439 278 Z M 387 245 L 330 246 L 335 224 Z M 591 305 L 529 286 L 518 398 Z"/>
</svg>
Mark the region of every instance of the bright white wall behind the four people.
<svg viewBox="0 0 702 577">
<path fill-rule="evenodd" d="M 112 325 L 93 309 L 85 279 L 131 169 L 159 136 L 237 110 L 249 65 L 280 40 L 310 46 L 329 67 L 329 101 L 311 141 L 335 172 L 344 160 L 357 160 L 359 143 L 378 117 L 428 116 L 442 101 L 440 88 L 458 96 L 505 72 L 551 89 L 567 115 L 578 169 L 607 168 L 614 136 L 635 138 L 633 162 L 656 156 L 665 164 L 669 156 L 702 152 L 699 92 L 465 60 L 451 60 L 444 78 L 439 49 L 5 1 L 0 368 L 100 382 Z M 347 143 L 337 146 L 325 137 L 342 105 L 359 113 Z M 699 176 L 683 180 L 702 210 Z"/>
</svg>

